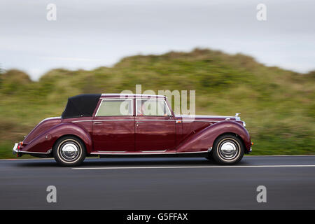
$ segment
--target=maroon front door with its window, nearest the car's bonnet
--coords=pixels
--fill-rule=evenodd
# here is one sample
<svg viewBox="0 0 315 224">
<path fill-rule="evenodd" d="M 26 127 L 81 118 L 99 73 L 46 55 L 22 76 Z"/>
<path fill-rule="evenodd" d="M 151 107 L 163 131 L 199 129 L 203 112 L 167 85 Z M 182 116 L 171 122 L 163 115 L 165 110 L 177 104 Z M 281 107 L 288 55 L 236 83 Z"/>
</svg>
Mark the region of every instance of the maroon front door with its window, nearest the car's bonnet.
<svg viewBox="0 0 315 224">
<path fill-rule="evenodd" d="M 136 151 L 175 148 L 175 120 L 165 99 L 136 99 Z"/>
</svg>

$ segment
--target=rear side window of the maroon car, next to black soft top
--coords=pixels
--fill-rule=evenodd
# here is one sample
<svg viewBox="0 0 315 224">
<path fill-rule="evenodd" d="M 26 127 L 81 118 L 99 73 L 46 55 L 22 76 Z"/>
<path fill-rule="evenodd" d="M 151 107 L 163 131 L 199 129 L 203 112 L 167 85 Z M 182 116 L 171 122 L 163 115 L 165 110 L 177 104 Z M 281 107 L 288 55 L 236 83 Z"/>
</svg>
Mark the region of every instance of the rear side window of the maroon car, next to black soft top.
<svg viewBox="0 0 315 224">
<path fill-rule="evenodd" d="M 132 116 L 132 99 L 103 99 L 96 116 Z"/>
</svg>

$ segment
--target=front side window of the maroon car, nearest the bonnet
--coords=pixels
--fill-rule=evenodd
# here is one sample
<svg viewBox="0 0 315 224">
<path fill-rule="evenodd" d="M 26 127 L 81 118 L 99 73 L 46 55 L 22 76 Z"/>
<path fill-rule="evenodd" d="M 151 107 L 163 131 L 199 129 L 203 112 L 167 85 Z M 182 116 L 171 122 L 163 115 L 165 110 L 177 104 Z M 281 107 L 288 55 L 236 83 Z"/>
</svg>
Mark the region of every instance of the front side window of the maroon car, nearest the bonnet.
<svg viewBox="0 0 315 224">
<path fill-rule="evenodd" d="M 137 99 L 137 116 L 169 116 L 171 112 L 164 99 Z"/>
</svg>

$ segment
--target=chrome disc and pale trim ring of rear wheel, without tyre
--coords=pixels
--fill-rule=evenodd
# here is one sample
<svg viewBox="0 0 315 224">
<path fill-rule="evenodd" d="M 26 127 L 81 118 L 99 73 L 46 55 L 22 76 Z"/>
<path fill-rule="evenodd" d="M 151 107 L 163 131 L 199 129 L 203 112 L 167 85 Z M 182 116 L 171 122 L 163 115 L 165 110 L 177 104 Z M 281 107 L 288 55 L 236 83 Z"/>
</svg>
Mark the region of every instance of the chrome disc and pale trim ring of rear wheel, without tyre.
<svg viewBox="0 0 315 224">
<path fill-rule="evenodd" d="M 78 141 L 66 139 L 59 144 L 57 154 L 62 162 L 73 163 L 80 159 L 82 148 Z"/>
</svg>

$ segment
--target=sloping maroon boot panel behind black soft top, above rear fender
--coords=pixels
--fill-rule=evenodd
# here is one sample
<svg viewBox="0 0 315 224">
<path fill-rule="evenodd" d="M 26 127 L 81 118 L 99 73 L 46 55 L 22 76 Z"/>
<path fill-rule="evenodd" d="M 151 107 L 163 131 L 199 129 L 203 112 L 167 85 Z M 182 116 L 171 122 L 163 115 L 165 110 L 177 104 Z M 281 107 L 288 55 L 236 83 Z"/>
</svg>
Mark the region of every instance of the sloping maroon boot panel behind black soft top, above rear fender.
<svg viewBox="0 0 315 224">
<path fill-rule="evenodd" d="M 45 118 L 42 120 L 38 125 L 34 127 L 29 134 L 27 134 L 27 137 L 23 140 L 25 143 L 29 143 L 29 141 L 36 138 L 39 134 L 45 132 L 46 130 L 50 129 L 50 127 L 55 126 L 59 123 L 61 123 L 62 118 L 61 117 L 53 117 L 53 118 Z"/>
</svg>

